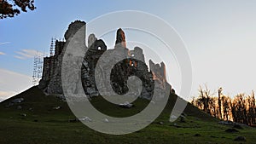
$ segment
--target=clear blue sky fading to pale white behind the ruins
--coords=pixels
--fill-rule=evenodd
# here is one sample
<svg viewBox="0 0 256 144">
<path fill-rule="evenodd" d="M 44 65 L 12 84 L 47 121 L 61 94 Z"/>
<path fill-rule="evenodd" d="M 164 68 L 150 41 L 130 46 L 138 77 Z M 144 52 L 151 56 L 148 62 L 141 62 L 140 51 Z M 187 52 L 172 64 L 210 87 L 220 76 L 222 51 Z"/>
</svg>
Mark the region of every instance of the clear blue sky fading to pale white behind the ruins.
<svg viewBox="0 0 256 144">
<path fill-rule="evenodd" d="M 32 86 L 34 55 L 49 53 L 51 37 L 63 38 L 73 20 L 88 22 L 120 10 L 154 14 L 183 38 L 193 72 L 190 97 L 198 95 L 199 85 L 205 84 L 212 93 L 222 87 L 224 95 L 230 96 L 250 94 L 256 89 L 256 1 L 36 0 L 35 5 L 34 11 L 0 20 L 0 101 Z M 132 32 L 127 32 L 126 40 L 132 36 Z M 109 37 L 114 42 L 115 36 Z M 111 38 L 106 39 L 109 45 L 113 43 L 109 42 Z M 172 59 L 173 55 L 159 56 Z M 178 64 L 166 66 L 168 82 L 178 94 Z"/>
</svg>

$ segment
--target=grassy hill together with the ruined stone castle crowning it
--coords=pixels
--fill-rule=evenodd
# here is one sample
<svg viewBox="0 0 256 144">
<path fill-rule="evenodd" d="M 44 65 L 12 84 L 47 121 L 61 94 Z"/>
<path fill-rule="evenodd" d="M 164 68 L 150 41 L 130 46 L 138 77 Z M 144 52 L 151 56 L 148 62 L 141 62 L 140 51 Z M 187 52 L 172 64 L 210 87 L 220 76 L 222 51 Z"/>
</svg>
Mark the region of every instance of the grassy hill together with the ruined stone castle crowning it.
<svg viewBox="0 0 256 144">
<path fill-rule="evenodd" d="M 219 119 L 213 118 L 206 112 L 201 112 L 198 108 L 188 103 L 182 115 L 172 115 L 174 122 L 169 118 L 178 95 L 172 89 L 172 85 L 166 80 L 166 64 L 154 63 L 149 60 L 149 66 L 145 64 L 143 49 L 135 47 L 126 48 L 125 32 L 121 28 L 116 33 L 114 49 L 108 49 L 102 39 L 91 33 L 88 37 L 88 45 L 82 47 L 86 54 L 83 61 L 73 61 L 65 59 L 65 55 L 76 57 L 72 54 L 74 48 L 68 51 L 68 43 L 71 43 L 76 32 L 85 33 L 85 22 L 76 20 L 72 22 L 65 32 L 65 40 L 52 41 L 50 55 L 44 57 L 43 76 L 38 86 L 34 86 L 26 91 L 9 98 L 0 103 L 0 143 L 253 143 L 256 131 L 246 126 L 233 127 L 218 124 Z M 81 36 L 85 40 L 85 36 Z M 81 40 L 81 41 L 83 41 Z M 103 53 L 107 52 L 107 57 Z M 114 55 L 115 54 L 115 55 Z M 102 56 L 103 55 L 103 56 Z M 98 60 L 102 60 L 96 71 Z M 125 59 L 123 59 L 125 57 Z M 101 59 L 100 59 L 101 58 Z M 117 58 L 118 62 L 111 58 Z M 82 62 L 82 66 L 79 63 Z M 101 61 L 100 61 L 101 62 Z M 108 65 L 114 63 L 114 66 Z M 67 65 L 67 64 L 71 65 Z M 105 65 L 106 64 L 106 65 Z M 64 66 L 61 67 L 61 66 Z M 65 68 L 65 66 L 67 66 Z M 77 68 L 75 68 L 77 67 Z M 79 68 L 78 68 L 79 67 Z M 62 70 L 63 69 L 63 70 Z M 77 70 L 77 72 L 75 71 Z M 111 70 L 110 73 L 108 70 Z M 62 72 L 64 71 L 64 72 Z M 69 72 L 64 78 L 70 79 L 62 85 L 61 77 L 65 71 Z M 77 73 L 77 74 L 76 74 Z M 63 93 L 65 90 L 71 94 L 78 94 L 78 87 L 65 89 L 69 84 L 78 86 L 77 78 L 81 74 L 81 81 L 84 93 L 90 96 L 90 103 L 96 109 L 108 116 L 125 118 L 143 111 L 149 102 L 157 104 L 157 100 L 163 100 L 169 95 L 166 107 L 160 116 L 143 130 L 128 135 L 106 135 L 91 130 L 81 123 L 94 123 L 96 119 L 84 115 L 84 118 L 76 118 L 65 101 Z M 96 77 L 97 76 L 97 77 Z M 104 78 L 110 76 L 110 84 L 106 84 Z M 99 89 L 105 89 L 103 95 L 113 96 L 109 89 L 113 89 L 116 94 L 125 95 L 130 88 L 132 96 L 137 91 L 137 81 L 128 85 L 128 78 L 137 76 L 142 81 L 142 90 L 136 101 L 131 103 L 133 107 L 120 107 L 102 98 Z M 96 84 L 96 78 L 100 78 Z M 105 84 L 105 85 L 104 85 Z M 103 86 L 102 86 L 103 85 Z M 111 85 L 108 88 L 106 85 Z M 63 87 L 62 87 L 63 86 Z M 131 87 L 130 87 L 131 86 Z M 130 92 L 130 91 L 129 91 Z M 170 94 L 169 94 L 170 92 Z M 157 96 L 155 96 L 157 95 Z M 123 100 L 123 99 L 122 99 Z M 151 100 L 151 101 L 149 101 Z M 186 101 L 184 101 L 186 102 Z M 150 103 L 151 104 L 151 103 Z M 156 106 L 156 105 L 154 105 Z M 154 107 L 157 109 L 158 107 Z M 151 112 L 151 111 L 150 111 Z M 147 113 L 148 114 L 148 113 Z M 148 115 L 147 115 L 148 116 Z M 79 121 L 81 120 L 81 121 Z M 114 123 L 104 119 L 105 123 Z M 140 119 L 136 119 L 139 123 Z M 130 123 L 130 121 L 129 121 Z M 125 128 L 130 128 L 129 126 Z M 241 137 L 238 137 L 241 136 Z M 246 140 L 245 140 L 246 139 Z"/>
</svg>

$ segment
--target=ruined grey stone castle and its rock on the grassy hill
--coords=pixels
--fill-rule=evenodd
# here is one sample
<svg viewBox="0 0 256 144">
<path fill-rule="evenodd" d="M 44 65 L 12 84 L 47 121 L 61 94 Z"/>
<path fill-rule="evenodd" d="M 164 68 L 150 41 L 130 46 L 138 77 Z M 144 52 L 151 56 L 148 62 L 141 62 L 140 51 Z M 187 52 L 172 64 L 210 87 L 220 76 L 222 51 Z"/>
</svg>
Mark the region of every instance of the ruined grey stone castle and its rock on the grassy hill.
<svg viewBox="0 0 256 144">
<path fill-rule="evenodd" d="M 85 22 L 76 20 L 68 26 L 65 33 L 66 42 L 55 42 L 55 55 L 44 58 L 43 78 L 40 81 L 39 88 L 44 89 L 49 94 L 62 94 L 61 87 L 61 62 L 63 57 L 63 49 L 67 48 L 70 38 L 85 25 Z M 85 38 L 85 37 L 84 37 Z M 135 47 L 133 50 L 126 48 L 125 32 L 119 28 L 116 35 L 116 45 L 114 49 L 107 49 L 102 39 L 97 39 L 94 34 L 88 37 L 88 50 L 84 56 L 83 66 L 81 69 L 81 79 L 86 95 L 100 95 L 96 85 L 96 64 L 104 52 L 114 53 L 118 50 L 119 58 L 126 58 L 119 61 L 113 67 L 101 67 L 101 71 L 111 70 L 110 80 L 114 92 L 124 95 L 129 91 L 127 80 L 130 76 L 137 76 L 143 82 L 141 97 L 150 99 L 154 94 L 154 89 L 165 89 L 171 87 L 166 83 L 166 66 L 164 63 L 154 64 L 149 61 L 150 70 L 145 64 L 143 49 Z M 111 59 L 110 59 L 111 60 Z M 111 62 L 111 61 L 105 61 Z M 152 71 L 154 70 L 154 71 Z M 154 88 L 154 83 L 160 84 L 159 88 Z M 104 82 L 100 83 L 103 84 Z M 136 85 L 136 84 L 135 84 Z M 101 87 L 102 88 L 102 87 Z M 172 88 L 171 88 L 172 89 Z"/>
</svg>

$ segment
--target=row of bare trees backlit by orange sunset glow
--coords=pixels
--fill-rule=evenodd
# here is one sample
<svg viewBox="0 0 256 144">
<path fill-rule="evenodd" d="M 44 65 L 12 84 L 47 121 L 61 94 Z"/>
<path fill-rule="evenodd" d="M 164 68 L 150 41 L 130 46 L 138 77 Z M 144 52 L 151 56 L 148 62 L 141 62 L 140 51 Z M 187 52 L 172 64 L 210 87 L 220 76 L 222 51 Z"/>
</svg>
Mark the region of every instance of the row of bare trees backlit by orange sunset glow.
<svg viewBox="0 0 256 144">
<path fill-rule="evenodd" d="M 218 89 L 216 96 L 207 86 L 204 89 L 200 86 L 198 97 L 194 97 L 191 103 L 213 117 L 256 126 L 254 91 L 251 95 L 238 94 L 232 99 L 223 94 L 222 88 Z"/>
</svg>

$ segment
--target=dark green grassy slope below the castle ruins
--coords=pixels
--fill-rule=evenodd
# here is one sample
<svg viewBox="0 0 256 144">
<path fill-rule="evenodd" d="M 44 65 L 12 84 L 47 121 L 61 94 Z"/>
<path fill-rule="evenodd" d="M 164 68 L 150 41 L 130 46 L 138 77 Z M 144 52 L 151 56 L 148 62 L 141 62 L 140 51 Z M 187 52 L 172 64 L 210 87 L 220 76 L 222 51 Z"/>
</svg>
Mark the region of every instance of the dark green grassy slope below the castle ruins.
<svg viewBox="0 0 256 144">
<path fill-rule="evenodd" d="M 4 107 L 17 97 L 25 99 L 19 104 L 22 107 L 21 110 L 16 109 L 19 105 Z M 80 122 L 68 122 L 68 119 L 75 117 L 67 107 L 67 103 L 58 100 L 55 96 L 44 95 L 41 90 L 33 87 L 0 104 L 0 144 L 255 143 L 255 129 L 244 127 L 238 133 L 226 133 L 225 130 L 231 126 L 217 124 L 218 119 L 210 117 L 191 105 L 188 105 L 184 111 L 188 114 L 186 123 L 179 122 L 179 119 L 173 123 L 168 122 L 176 98 L 176 95 L 171 95 L 160 117 L 145 129 L 128 135 L 106 135 L 90 130 Z M 143 99 L 135 101 L 136 107 L 131 109 L 109 104 L 101 97 L 94 98 L 91 102 L 101 112 L 116 117 L 130 116 L 148 105 L 148 101 Z M 57 106 L 61 106 L 61 109 L 52 108 Z M 31 107 L 33 111 L 29 110 Z M 26 113 L 26 117 L 20 116 L 20 113 Z M 195 134 L 201 136 L 194 136 Z M 234 141 L 238 135 L 245 136 L 247 141 Z"/>
</svg>

